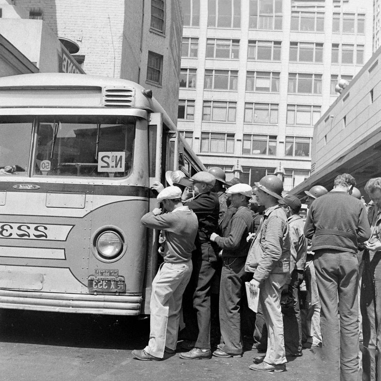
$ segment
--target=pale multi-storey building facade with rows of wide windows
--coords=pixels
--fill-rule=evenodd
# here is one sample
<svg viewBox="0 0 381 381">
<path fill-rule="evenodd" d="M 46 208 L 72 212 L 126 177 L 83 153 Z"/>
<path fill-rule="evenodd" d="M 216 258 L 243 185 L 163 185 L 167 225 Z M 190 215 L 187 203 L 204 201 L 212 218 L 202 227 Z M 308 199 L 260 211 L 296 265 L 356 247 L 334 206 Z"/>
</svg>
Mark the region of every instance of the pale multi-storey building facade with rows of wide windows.
<svg viewBox="0 0 381 381">
<path fill-rule="evenodd" d="M 178 129 L 253 185 L 308 178 L 314 124 L 373 49 L 373 0 L 182 0 Z"/>
</svg>

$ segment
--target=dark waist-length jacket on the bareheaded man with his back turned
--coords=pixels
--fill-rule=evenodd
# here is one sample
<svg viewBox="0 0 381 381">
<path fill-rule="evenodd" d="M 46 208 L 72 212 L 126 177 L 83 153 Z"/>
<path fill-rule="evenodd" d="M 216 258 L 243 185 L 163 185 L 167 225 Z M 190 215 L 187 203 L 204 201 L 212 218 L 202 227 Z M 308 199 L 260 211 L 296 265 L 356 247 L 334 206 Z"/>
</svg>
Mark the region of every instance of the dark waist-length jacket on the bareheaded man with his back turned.
<svg viewBox="0 0 381 381">
<path fill-rule="evenodd" d="M 312 251 L 330 249 L 357 253 L 371 231 L 363 203 L 346 192 L 328 192 L 311 203 L 304 235 Z"/>
</svg>

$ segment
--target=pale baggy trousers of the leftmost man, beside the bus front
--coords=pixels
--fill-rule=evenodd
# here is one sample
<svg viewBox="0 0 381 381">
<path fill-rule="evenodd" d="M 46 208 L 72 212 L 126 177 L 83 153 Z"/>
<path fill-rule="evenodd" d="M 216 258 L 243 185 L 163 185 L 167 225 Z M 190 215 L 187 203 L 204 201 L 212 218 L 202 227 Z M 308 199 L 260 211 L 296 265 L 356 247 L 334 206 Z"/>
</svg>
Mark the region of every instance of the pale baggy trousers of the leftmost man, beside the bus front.
<svg viewBox="0 0 381 381">
<path fill-rule="evenodd" d="M 176 349 L 182 294 L 191 278 L 192 261 L 160 265 L 152 282 L 149 343 L 144 350 L 162 358 L 164 348 Z"/>
</svg>

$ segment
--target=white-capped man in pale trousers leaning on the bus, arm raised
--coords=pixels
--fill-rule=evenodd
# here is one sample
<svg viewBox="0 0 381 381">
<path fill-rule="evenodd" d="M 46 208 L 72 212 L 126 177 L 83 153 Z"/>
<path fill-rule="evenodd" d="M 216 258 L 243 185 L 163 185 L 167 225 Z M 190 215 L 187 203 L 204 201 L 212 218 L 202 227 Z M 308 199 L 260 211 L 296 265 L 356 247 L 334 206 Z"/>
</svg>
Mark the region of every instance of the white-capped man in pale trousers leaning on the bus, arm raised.
<svg viewBox="0 0 381 381">
<path fill-rule="evenodd" d="M 197 235 L 197 216 L 181 202 L 181 189 L 170 186 L 157 196 L 168 213 L 155 208 L 141 218 L 143 226 L 160 229 L 165 236 L 164 263 L 152 282 L 150 340 L 142 350 L 132 351 L 138 360 L 161 360 L 174 353 L 177 344 L 182 294 L 192 273 L 192 251 Z"/>
</svg>

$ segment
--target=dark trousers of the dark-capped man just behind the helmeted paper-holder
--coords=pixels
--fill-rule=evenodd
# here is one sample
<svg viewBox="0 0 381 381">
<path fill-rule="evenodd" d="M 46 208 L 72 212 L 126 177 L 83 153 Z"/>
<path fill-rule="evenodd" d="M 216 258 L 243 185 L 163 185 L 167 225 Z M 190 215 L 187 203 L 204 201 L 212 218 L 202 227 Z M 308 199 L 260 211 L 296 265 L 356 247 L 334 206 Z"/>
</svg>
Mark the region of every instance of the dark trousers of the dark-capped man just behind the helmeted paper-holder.
<svg viewBox="0 0 381 381">
<path fill-rule="evenodd" d="M 290 354 L 302 352 L 302 321 L 300 318 L 299 286 L 303 282 L 303 279 L 303 270 L 293 270 L 288 293 L 289 296 L 293 297 L 295 306 L 282 309 L 285 349 L 286 352 Z"/>
</svg>

